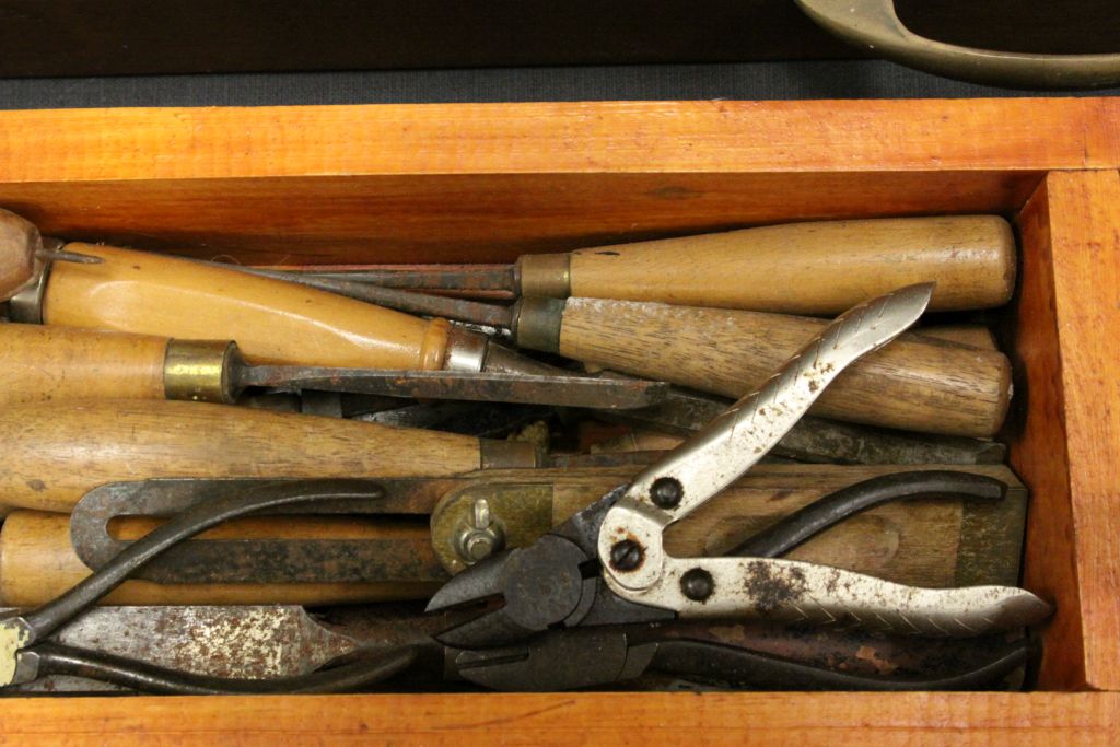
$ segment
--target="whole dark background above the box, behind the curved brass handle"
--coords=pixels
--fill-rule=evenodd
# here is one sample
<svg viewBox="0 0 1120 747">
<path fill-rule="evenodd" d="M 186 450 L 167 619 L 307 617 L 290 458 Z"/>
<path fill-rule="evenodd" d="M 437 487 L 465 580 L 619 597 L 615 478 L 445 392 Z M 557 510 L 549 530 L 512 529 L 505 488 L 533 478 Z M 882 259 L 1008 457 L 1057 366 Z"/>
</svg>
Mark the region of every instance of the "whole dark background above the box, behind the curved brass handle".
<svg viewBox="0 0 1120 747">
<path fill-rule="evenodd" d="M 896 6 L 944 41 L 1120 52 L 1118 0 Z M 0 109 L 1047 93 L 860 59 L 792 0 L 0 0 Z"/>
</svg>

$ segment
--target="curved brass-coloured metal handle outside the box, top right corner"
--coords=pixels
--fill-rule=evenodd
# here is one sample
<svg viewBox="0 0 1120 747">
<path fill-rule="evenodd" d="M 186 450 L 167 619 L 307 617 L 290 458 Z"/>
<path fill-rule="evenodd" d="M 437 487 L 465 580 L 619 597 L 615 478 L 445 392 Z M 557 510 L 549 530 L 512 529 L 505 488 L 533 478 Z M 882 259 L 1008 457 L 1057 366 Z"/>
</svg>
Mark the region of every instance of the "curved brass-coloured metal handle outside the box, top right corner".
<svg viewBox="0 0 1120 747">
<path fill-rule="evenodd" d="M 1120 85 L 1120 54 L 1040 55 L 944 44 L 907 29 L 894 0 L 796 0 L 821 28 L 876 56 L 945 77 L 1011 88 Z"/>
</svg>

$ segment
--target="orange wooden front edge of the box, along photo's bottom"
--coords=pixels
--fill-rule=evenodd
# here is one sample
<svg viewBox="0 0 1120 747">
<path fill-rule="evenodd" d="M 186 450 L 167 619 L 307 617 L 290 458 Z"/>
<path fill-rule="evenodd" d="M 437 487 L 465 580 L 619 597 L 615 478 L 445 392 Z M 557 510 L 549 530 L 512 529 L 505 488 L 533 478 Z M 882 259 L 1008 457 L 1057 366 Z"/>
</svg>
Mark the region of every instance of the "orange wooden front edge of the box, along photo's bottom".
<svg viewBox="0 0 1120 747">
<path fill-rule="evenodd" d="M 41 698 L 0 710 L 0 744 L 1111 747 L 1118 713 L 1117 693 Z"/>
</svg>

